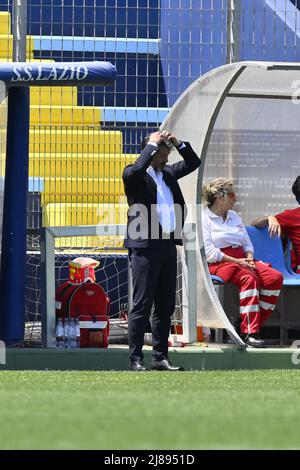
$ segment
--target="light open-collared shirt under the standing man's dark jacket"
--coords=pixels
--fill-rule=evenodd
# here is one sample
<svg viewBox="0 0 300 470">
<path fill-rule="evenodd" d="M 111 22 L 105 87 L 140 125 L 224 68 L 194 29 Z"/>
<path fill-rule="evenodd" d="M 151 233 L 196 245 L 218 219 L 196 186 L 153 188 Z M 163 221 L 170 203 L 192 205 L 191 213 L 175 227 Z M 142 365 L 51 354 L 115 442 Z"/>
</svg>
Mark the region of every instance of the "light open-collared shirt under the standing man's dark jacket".
<svg viewBox="0 0 300 470">
<path fill-rule="evenodd" d="M 155 171 L 152 166 L 147 168 L 147 173 L 154 179 L 157 187 L 156 211 L 162 231 L 165 233 L 174 232 L 176 228 L 174 198 L 169 186 L 163 180 L 161 171 Z"/>
</svg>

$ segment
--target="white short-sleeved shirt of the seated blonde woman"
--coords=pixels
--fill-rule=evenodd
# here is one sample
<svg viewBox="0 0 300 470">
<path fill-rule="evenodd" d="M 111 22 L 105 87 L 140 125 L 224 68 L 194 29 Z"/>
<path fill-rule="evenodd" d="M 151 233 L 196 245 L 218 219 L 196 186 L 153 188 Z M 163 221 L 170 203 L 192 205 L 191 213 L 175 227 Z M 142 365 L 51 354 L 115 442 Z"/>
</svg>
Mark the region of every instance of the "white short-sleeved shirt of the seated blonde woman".
<svg viewBox="0 0 300 470">
<path fill-rule="evenodd" d="M 221 216 L 206 207 L 202 213 L 202 229 L 208 263 L 222 261 L 224 253 L 220 248 L 240 246 L 244 252 L 254 252 L 243 221 L 235 211 L 229 210 L 224 221 Z"/>
</svg>

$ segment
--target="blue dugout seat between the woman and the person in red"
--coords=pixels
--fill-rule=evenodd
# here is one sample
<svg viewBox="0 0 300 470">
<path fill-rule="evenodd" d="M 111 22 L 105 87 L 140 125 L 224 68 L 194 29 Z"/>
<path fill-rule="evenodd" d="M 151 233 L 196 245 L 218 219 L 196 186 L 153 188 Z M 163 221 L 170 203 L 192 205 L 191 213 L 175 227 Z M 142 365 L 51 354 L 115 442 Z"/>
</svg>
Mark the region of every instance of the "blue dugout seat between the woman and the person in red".
<svg viewBox="0 0 300 470">
<path fill-rule="evenodd" d="M 254 247 L 254 258 L 271 263 L 274 269 L 280 271 L 283 274 L 284 287 L 300 286 L 300 276 L 289 272 L 286 267 L 281 239 L 271 238 L 268 228 L 246 227 L 246 229 Z M 287 344 L 289 328 L 300 328 L 300 318 L 297 322 L 288 321 L 288 305 L 285 298 L 285 295 L 280 295 L 280 344 Z"/>
</svg>

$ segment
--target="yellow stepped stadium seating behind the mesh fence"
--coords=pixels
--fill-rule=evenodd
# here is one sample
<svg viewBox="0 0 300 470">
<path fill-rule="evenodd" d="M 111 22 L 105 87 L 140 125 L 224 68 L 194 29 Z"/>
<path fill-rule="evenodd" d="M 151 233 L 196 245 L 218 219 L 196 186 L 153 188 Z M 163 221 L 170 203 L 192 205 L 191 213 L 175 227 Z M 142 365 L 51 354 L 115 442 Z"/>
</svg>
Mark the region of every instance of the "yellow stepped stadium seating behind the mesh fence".
<svg viewBox="0 0 300 470">
<path fill-rule="evenodd" d="M 34 59 L 34 41 L 26 39 L 26 61 Z M 12 61 L 11 19 L 0 12 L 0 61 Z M 44 178 L 41 203 L 48 226 L 125 224 L 127 202 L 121 179 L 136 155 L 123 154 L 122 133 L 102 131 L 101 109 L 77 106 L 77 87 L 31 87 L 30 176 Z M 3 122 L 2 122 L 3 121 Z M 0 120 L 0 175 L 5 170 L 5 127 Z M 75 251 L 123 246 L 123 237 L 58 238 L 56 247 Z"/>
</svg>

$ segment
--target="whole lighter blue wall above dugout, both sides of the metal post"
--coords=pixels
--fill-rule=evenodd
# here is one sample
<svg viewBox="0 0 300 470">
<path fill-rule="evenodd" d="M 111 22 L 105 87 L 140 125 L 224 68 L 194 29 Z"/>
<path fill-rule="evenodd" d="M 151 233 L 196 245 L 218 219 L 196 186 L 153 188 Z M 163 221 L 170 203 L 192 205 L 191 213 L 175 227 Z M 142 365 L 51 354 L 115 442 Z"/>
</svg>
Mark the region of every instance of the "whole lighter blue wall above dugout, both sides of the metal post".
<svg viewBox="0 0 300 470">
<path fill-rule="evenodd" d="M 190 5 L 190 3 L 192 3 Z M 300 6 L 300 0 L 294 2 Z M 226 2 L 161 0 L 160 57 L 168 105 L 226 63 Z M 191 11 L 191 8 L 194 11 Z M 300 12 L 286 0 L 241 0 L 239 60 L 300 61 Z"/>
</svg>

